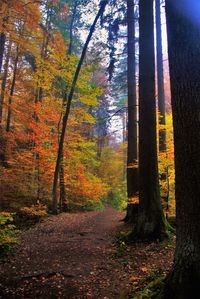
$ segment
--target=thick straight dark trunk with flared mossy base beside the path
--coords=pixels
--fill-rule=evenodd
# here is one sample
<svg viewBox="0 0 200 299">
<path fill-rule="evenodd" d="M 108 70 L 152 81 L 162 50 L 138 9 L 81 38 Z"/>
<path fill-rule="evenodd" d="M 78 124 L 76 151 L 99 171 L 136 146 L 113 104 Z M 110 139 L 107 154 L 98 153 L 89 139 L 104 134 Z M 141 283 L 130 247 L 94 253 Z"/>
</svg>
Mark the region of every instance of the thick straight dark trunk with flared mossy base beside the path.
<svg viewBox="0 0 200 299">
<path fill-rule="evenodd" d="M 161 239 L 165 230 L 160 203 L 156 142 L 153 0 L 140 0 L 139 57 L 139 215 L 136 235 Z"/>
</svg>

